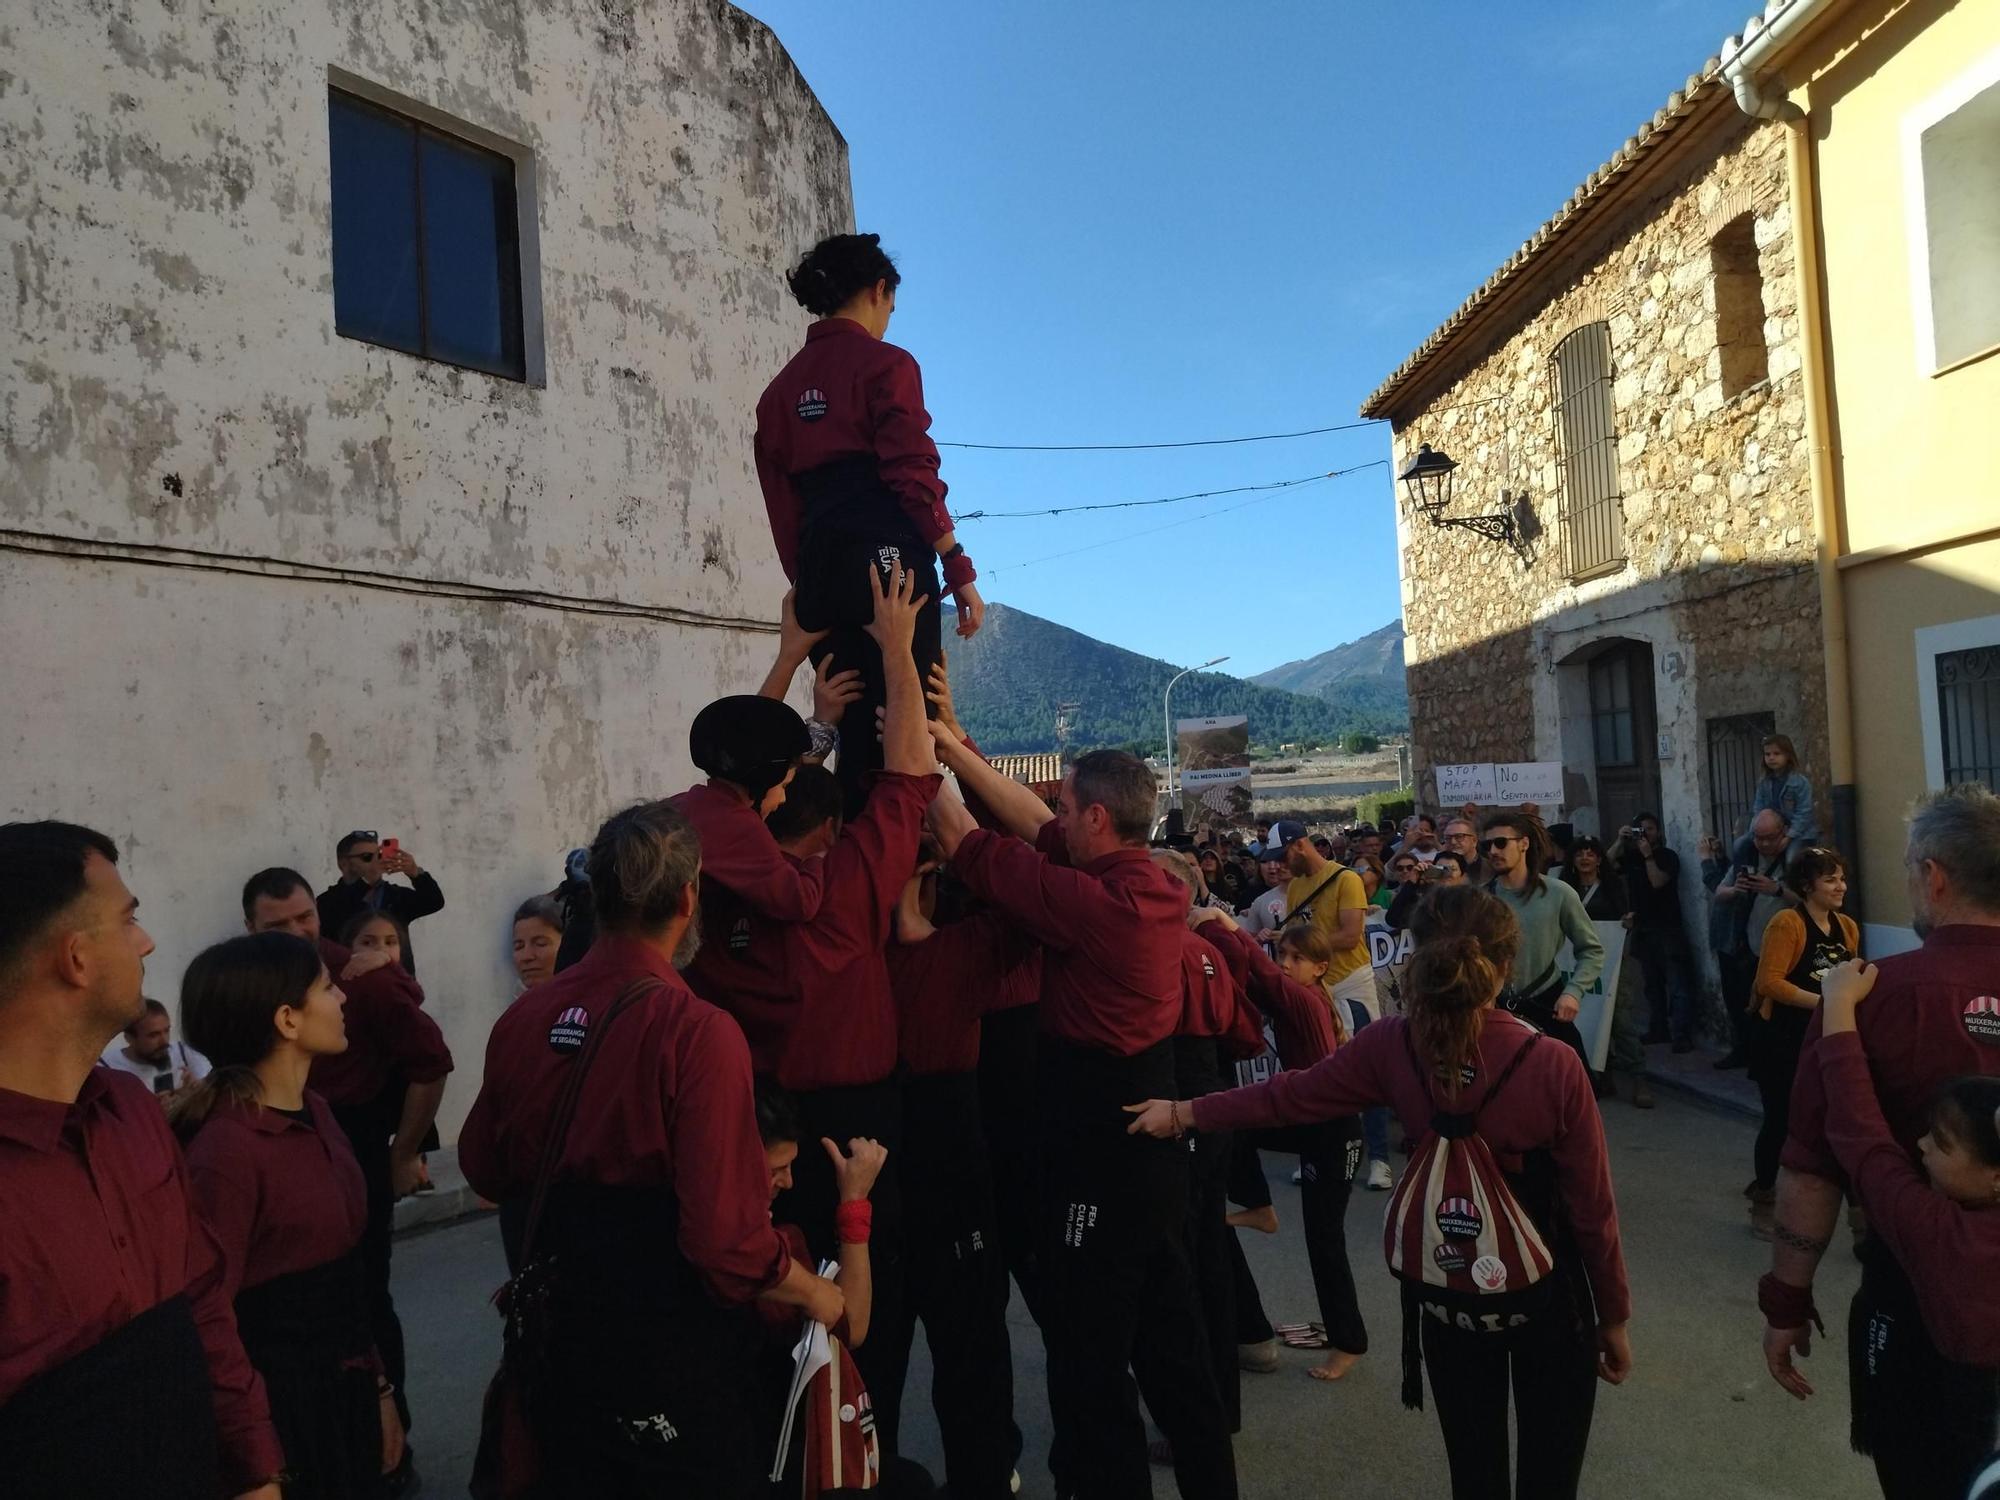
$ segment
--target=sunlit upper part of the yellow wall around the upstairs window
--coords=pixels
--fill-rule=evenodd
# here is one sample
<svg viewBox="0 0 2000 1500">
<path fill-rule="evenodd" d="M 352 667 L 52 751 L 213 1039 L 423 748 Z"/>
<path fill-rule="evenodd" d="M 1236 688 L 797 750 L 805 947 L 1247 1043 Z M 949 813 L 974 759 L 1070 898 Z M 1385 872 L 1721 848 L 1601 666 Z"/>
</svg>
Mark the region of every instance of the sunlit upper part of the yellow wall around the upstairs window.
<svg viewBox="0 0 2000 1500">
<path fill-rule="evenodd" d="M 2000 524 L 2000 352 L 1918 370 L 1904 118 L 2000 50 L 2000 4 L 1912 0 L 1856 42 L 1874 6 L 1836 28 L 1850 50 L 1812 60 L 1826 332 L 1846 550 Z M 1860 686 L 1860 684 L 1856 684 Z"/>
</svg>

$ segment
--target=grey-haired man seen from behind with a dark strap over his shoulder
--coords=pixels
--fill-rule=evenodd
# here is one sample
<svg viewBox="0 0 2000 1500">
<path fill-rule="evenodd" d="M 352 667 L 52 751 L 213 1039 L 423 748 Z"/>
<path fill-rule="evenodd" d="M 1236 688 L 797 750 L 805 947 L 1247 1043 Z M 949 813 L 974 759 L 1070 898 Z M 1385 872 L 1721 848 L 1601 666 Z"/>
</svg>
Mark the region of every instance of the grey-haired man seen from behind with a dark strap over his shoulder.
<svg viewBox="0 0 2000 1500">
<path fill-rule="evenodd" d="M 546 1494 L 754 1494 L 750 1302 L 824 1324 L 844 1306 L 772 1228 L 742 1030 L 678 972 L 700 946 L 700 866 L 668 802 L 598 830 L 598 940 L 494 1024 L 458 1142 L 486 1198 L 546 1194 L 516 1280 L 544 1314 L 516 1354 Z"/>
</svg>

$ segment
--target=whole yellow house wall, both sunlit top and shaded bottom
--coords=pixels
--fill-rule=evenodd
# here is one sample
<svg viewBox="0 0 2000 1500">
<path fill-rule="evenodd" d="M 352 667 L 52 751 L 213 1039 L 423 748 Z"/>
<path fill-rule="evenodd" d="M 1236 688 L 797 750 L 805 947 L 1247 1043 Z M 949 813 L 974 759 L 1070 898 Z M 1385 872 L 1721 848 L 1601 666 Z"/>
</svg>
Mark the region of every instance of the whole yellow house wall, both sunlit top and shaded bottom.
<svg viewBox="0 0 2000 1500">
<path fill-rule="evenodd" d="M 1884 16 L 1884 12 L 1888 12 Z M 2000 352 L 1918 364 L 1906 120 L 2000 50 L 2000 4 L 1852 4 L 1786 66 L 1808 108 L 1842 552 L 1944 542 L 1842 570 L 1866 916 L 1906 926 L 1904 814 L 1926 766 L 1916 632 L 2000 614 Z M 1830 830 L 1828 830 L 1830 832 Z"/>
</svg>

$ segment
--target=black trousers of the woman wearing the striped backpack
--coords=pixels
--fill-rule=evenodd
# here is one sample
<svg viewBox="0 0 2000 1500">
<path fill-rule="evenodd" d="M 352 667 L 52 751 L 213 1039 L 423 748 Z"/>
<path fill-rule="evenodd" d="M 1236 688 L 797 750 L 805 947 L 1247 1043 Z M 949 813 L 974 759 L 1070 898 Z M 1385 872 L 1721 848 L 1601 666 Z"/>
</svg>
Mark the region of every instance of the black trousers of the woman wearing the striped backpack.
<svg viewBox="0 0 2000 1500">
<path fill-rule="evenodd" d="M 1596 1340 L 1564 1300 L 1524 1328 L 1474 1334 L 1422 1320 L 1452 1500 L 1576 1500 L 1596 1410 Z M 1520 1452 L 1508 1488 L 1508 1388 Z"/>
</svg>

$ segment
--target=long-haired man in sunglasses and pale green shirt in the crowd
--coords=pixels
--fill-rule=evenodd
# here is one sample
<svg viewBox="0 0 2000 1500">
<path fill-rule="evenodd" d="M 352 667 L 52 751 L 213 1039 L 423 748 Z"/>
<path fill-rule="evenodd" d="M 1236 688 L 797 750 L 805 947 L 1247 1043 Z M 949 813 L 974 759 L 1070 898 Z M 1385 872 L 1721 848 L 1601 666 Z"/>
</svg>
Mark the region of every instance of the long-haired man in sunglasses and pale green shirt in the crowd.
<svg viewBox="0 0 2000 1500">
<path fill-rule="evenodd" d="M 1480 826 L 1480 854 L 1492 880 L 1486 886 L 1512 908 L 1520 944 L 1500 1006 L 1566 1042 L 1590 1070 L 1584 1034 L 1576 1030 L 1584 990 L 1604 972 L 1604 942 L 1572 886 L 1548 880 L 1548 830 L 1526 812 L 1494 812 Z M 1576 972 L 1558 966 L 1562 944 L 1576 954 Z"/>
</svg>

